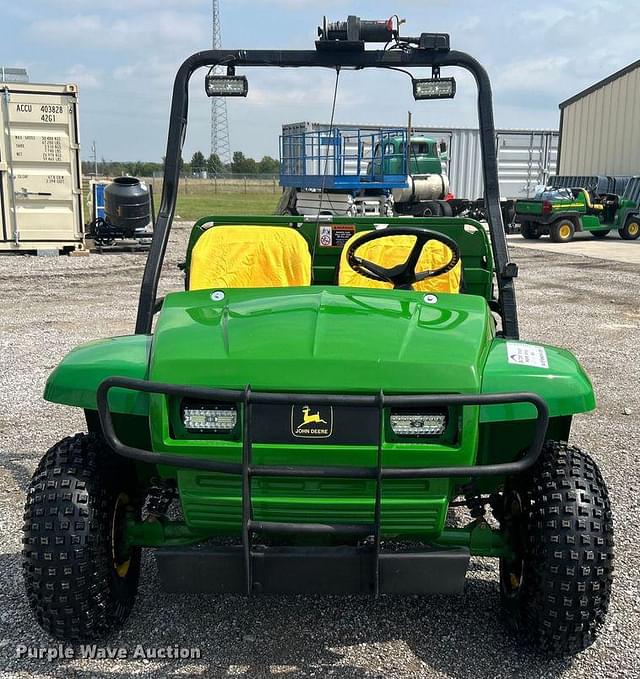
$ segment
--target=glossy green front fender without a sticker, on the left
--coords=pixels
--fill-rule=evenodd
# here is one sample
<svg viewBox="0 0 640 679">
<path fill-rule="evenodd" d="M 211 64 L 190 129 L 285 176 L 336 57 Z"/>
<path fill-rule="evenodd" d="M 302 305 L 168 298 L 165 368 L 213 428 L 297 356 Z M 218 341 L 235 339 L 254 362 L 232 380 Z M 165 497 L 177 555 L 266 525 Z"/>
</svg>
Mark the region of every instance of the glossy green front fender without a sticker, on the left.
<svg viewBox="0 0 640 679">
<path fill-rule="evenodd" d="M 147 378 L 151 339 L 151 335 L 127 335 L 81 344 L 49 375 L 44 398 L 96 410 L 96 392 L 102 380 L 114 376 Z M 147 415 L 148 395 L 112 389 L 109 406 L 115 413 Z"/>
</svg>

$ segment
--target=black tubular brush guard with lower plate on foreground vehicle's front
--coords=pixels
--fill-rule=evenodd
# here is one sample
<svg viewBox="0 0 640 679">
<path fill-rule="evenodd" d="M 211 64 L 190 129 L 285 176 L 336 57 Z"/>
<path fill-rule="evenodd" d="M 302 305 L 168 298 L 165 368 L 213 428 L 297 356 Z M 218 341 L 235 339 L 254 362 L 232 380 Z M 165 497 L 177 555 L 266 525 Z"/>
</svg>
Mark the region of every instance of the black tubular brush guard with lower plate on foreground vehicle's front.
<svg viewBox="0 0 640 679">
<path fill-rule="evenodd" d="M 109 390 L 124 388 L 145 393 L 164 394 L 202 401 L 235 403 L 243 407 L 242 418 L 242 462 L 220 462 L 194 458 L 186 455 L 155 453 L 141 448 L 133 448 L 120 441 L 116 435 L 108 405 Z M 378 409 L 377 456 L 375 467 L 345 467 L 305 465 L 256 465 L 251 459 L 252 432 L 251 407 L 253 404 L 290 404 L 305 403 L 314 405 L 375 406 Z M 384 440 L 384 411 L 386 407 L 446 407 L 495 405 L 500 403 L 531 403 L 537 410 L 533 440 L 526 453 L 519 460 L 500 464 L 457 467 L 382 467 L 382 444 Z M 371 395 L 347 394 L 299 394 L 286 392 L 254 392 L 250 387 L 243 390 L 208 389 L 175 384 L 161 384 L 146 380 L 124 377 L 110 377 L 104 380 L 97 391 L 98 414 L 107 443 L 124 457 L 150 464 L 174 465 L 176 467 L 201 469 L 224 474 L 242 476 L 242 547 L 238 550 L 210 548 L 187 548 L 159 550 L 158 564 L 161 576 L 166 583 L 177 583 L 173 587 L 197 587 L 202 591 L 205 580 L 218 578 L 219 583 L 213 591 L 238 591 L 238 588 L 251 593 L 280 591 L 278 588 L 302 585 L 302 591 L 309 592 L 312 582 L 318 591 L 331 591 L 332 583 L 342 580 L 348 591 L 370 591 L 379 594 L 383 591 L 458 591 L 464 580 L 469 560 L 467 550 L 427 550 L 408 553 L 387 554 L 380 548 L 380 493 L 383 479 L 415 478 L 469 478 L 479 476 L 512 476 L 526 471 L 540 456 L 544 444 L 549 411 L 540 396 L 528 392 L 504 394 L 412 394 L 386 395 L 382 391 Z M 324 524 L 324 523 L 287 523 L 266 522 L 253 519 L 251 502 L 251 477 L 324 477 L 346 479 L 375 479 L 376 496 L 373 523 L 363 524 Z M 354 548 L 351 553 L 337 553 L 332 548 L 333 557 L 318 551 L 319 548 L 299 548 L 302 552 L 256 551 L 252 536 L 255 534 L 296 534 L 296 535 L 349 535 L 365 539 L 373 538 L 371 548 L 364 552 Z M 366 554 L 366 557 L 362 555 Z M 366 566 L 363 574 L 362 559 Z M 328 565 L 331 562 L 332 565 Z M 215 568 L 215 570 L 213 570 Z M 448 569 L 451 568 L 451 581 L 458 584 L 447 585 Z M 181 573 L 185 575 L 182 576 Z M 262 579 L 256 578 L 256 572 Z M 226 573 L 225 577 L 221 574 Z M 326 577 L 323 575 L 326 573 Z M 462 578 L 460 578 L 462 573 Z M 318 577 L 319 576 L 319 577 Z M 288 581 L 288 582 L 284 582 Z M 433 588 L 438 583 L 438 589 Z M 195 585 L 193 584 L 195 583 Z M 405 584 L 403 584 L 405 583 Z M 242 586 L 240 586 L 242 585 Z M 259 585 L 259 587 L 257 587 Z M 171 586 L 171 585 L 170 585 Z M 444 586 L 443 590 L 441 587 Z M 189 590 L 191 591 L 191 590 Z M 288 591 L 288 590 L 287 590 Z M 297 591 L 297 590 L 295 590 Z"/>
</svg>

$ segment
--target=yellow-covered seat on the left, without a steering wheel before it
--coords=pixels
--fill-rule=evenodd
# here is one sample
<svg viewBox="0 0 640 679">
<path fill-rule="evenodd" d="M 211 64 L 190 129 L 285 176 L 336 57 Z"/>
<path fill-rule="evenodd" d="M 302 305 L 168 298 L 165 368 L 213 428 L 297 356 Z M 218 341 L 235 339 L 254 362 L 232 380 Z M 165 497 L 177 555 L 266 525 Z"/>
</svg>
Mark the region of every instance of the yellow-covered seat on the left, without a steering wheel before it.
<svg viewBox="0 0 640 679">
<path fill-rule="evenodd" d="M 191 252 L 189 289 L 311 285 L 307 241 L 285 226 L 212 226 Z"/>
</svg>

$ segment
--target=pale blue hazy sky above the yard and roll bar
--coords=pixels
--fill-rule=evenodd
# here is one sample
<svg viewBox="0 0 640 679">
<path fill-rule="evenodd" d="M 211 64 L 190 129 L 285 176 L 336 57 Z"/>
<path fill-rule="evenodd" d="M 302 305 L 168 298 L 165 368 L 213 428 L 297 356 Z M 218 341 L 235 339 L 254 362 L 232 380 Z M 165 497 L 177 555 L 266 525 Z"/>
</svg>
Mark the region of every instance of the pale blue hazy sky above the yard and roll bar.
<svg viewBox="0 0 640 679">
<path fill-rule="evenodd" d="M 308 49 L 323 13 L 398 13 L 407 34 L 449 32 L 452 47 L 488 69 L 501 127 L 556 128 L 560 101 L 640 57 L 633 0 L 221 0 L 221 13 L 229 48 Z M 210 46 L 210 14 L 210 0 L 4 0 L 0 64 L 26 67 L 32 82 L 78 83 L 83 158 L 95 139 L 107 160 L 159 160 L 173 75 L 186 56 Z M 417 125 L 473 126 L 475 85 L 452 74 L 454 101 L 417 104 L 402 74 L 345 72 L 336 120 L 402 124 L 412 110 Z M 276 155 L 283 122 L 328 121 L 330 73 L 248 75 L 249 97 L 229 101 L 233 150 Z M 192 87 L 186 159 L 196 149 L 209 151 L 203 77 L 196 74 Z"/>
</svg>

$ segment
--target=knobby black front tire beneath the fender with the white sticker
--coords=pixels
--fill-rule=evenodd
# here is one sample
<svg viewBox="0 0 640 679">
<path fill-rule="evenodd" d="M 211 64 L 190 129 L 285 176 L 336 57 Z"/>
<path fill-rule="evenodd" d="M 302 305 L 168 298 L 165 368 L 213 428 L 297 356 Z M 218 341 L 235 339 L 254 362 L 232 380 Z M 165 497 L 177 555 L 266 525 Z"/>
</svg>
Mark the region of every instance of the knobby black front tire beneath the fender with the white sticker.
<svg viewBox="0 0 640 679">
<path fill-rule="evenodd" d="M 613 520 L 595 462 L 575 446 L 548 442 L 532 471 L 507 485 L 503 521 L 519 553 L 500 561 L 507 621 L 549 654 L 592 644 L 613 571 Z"/>
</svg>

